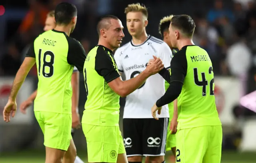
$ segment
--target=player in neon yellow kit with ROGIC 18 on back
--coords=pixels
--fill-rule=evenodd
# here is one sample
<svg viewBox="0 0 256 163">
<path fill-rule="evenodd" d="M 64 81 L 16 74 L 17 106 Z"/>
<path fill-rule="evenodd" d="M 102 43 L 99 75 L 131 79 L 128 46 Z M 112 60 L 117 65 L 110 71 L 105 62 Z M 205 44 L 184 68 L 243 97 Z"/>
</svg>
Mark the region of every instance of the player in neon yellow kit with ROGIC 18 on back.
<svg viewBox="0 0 256 163">
<path fill-rule="evenodd" d="M 55 9 L 56 27 L 39 35 L 18 70 L 3 115 L 10 121 L 16 111 L 16 95 L 36 63 L 38 92 L 34 102 L 36 119 L 44 133 L 46 163 L 74 163 L 76 149 L 71 136 L 72 86 L 74 66 L 81 72 L 85 61 L 82 45 L 69 35 L 76 26 L 77 9 L 61 3 Z M 70 145 L 71 144 L 71 145 Z M 68 152 L 66 152 L 68 151 Z M 75 153 L 73 155 L 73 153 Z"/>
</svg>

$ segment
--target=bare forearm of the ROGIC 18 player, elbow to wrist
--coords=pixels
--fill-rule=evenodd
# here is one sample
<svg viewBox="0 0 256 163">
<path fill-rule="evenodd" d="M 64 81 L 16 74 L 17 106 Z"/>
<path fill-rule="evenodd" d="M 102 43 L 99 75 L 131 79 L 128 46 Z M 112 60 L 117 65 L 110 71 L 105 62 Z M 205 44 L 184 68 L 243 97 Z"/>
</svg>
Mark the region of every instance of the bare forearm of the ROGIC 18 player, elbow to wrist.
<svg viewBox="0 0 256 163">
<path fill-rule="evenodd" d="M 10 100 L 15 100 L 16 96 L 18 94 L 18 91 L 20 90 L 20 87 L 24 80 L 26 79 L 26 76 L 28 75 L 28 72 L 24 70 L 22 67 L 18 70 L 14 81 L 12 83 L 12 90 L 9 96 Z"/>
</svg>

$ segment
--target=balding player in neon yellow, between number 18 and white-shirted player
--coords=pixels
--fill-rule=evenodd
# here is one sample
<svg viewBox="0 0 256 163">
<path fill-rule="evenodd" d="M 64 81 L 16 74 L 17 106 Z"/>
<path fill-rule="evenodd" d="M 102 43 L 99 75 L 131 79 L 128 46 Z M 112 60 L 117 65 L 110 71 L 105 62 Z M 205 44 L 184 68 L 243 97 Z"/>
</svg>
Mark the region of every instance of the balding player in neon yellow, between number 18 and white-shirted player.
<svg viewBox="0 0 256 163">
<path fill-rule="evenodd" d="M 125 97 L 138 89 L 164 66 L 157 58 L 138 76 L 122 81 L 112 51 L 122 42 L 123 28 L 116 16 L 102 17 L 97 25 L 98 46 L 88 53 L 84 62 L 87 101 L 82 128 L 90 163 L 128 163 L 119 129 L 120 96 Z"/>
</svg>

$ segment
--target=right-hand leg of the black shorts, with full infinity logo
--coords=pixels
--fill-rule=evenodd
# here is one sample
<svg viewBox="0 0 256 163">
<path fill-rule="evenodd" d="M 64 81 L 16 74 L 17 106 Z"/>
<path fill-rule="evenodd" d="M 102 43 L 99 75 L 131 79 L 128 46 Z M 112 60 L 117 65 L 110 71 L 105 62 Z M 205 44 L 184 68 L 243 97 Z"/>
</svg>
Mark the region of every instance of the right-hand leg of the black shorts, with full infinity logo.
<svg viewBox="0 0 256 163">
<path fill-rule="evenodd" d="M 144 119 L 143 123 L 143 155 L 164 156 L 169 118 Z"/>
</svg>

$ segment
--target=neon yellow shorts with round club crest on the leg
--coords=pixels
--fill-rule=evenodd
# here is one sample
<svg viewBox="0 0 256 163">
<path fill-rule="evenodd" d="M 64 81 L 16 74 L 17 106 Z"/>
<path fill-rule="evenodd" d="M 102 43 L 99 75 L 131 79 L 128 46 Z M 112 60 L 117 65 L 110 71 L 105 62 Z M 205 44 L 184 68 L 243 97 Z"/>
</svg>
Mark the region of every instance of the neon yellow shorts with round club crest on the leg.
<svg viewBox="0 0 256 163">
<path fill-rule="evenodd" d="M 116 163 L 118 154 L 126 153 L 119 126 L 82 123 L 87 142 L 88 162 Z"/>
</svg>

